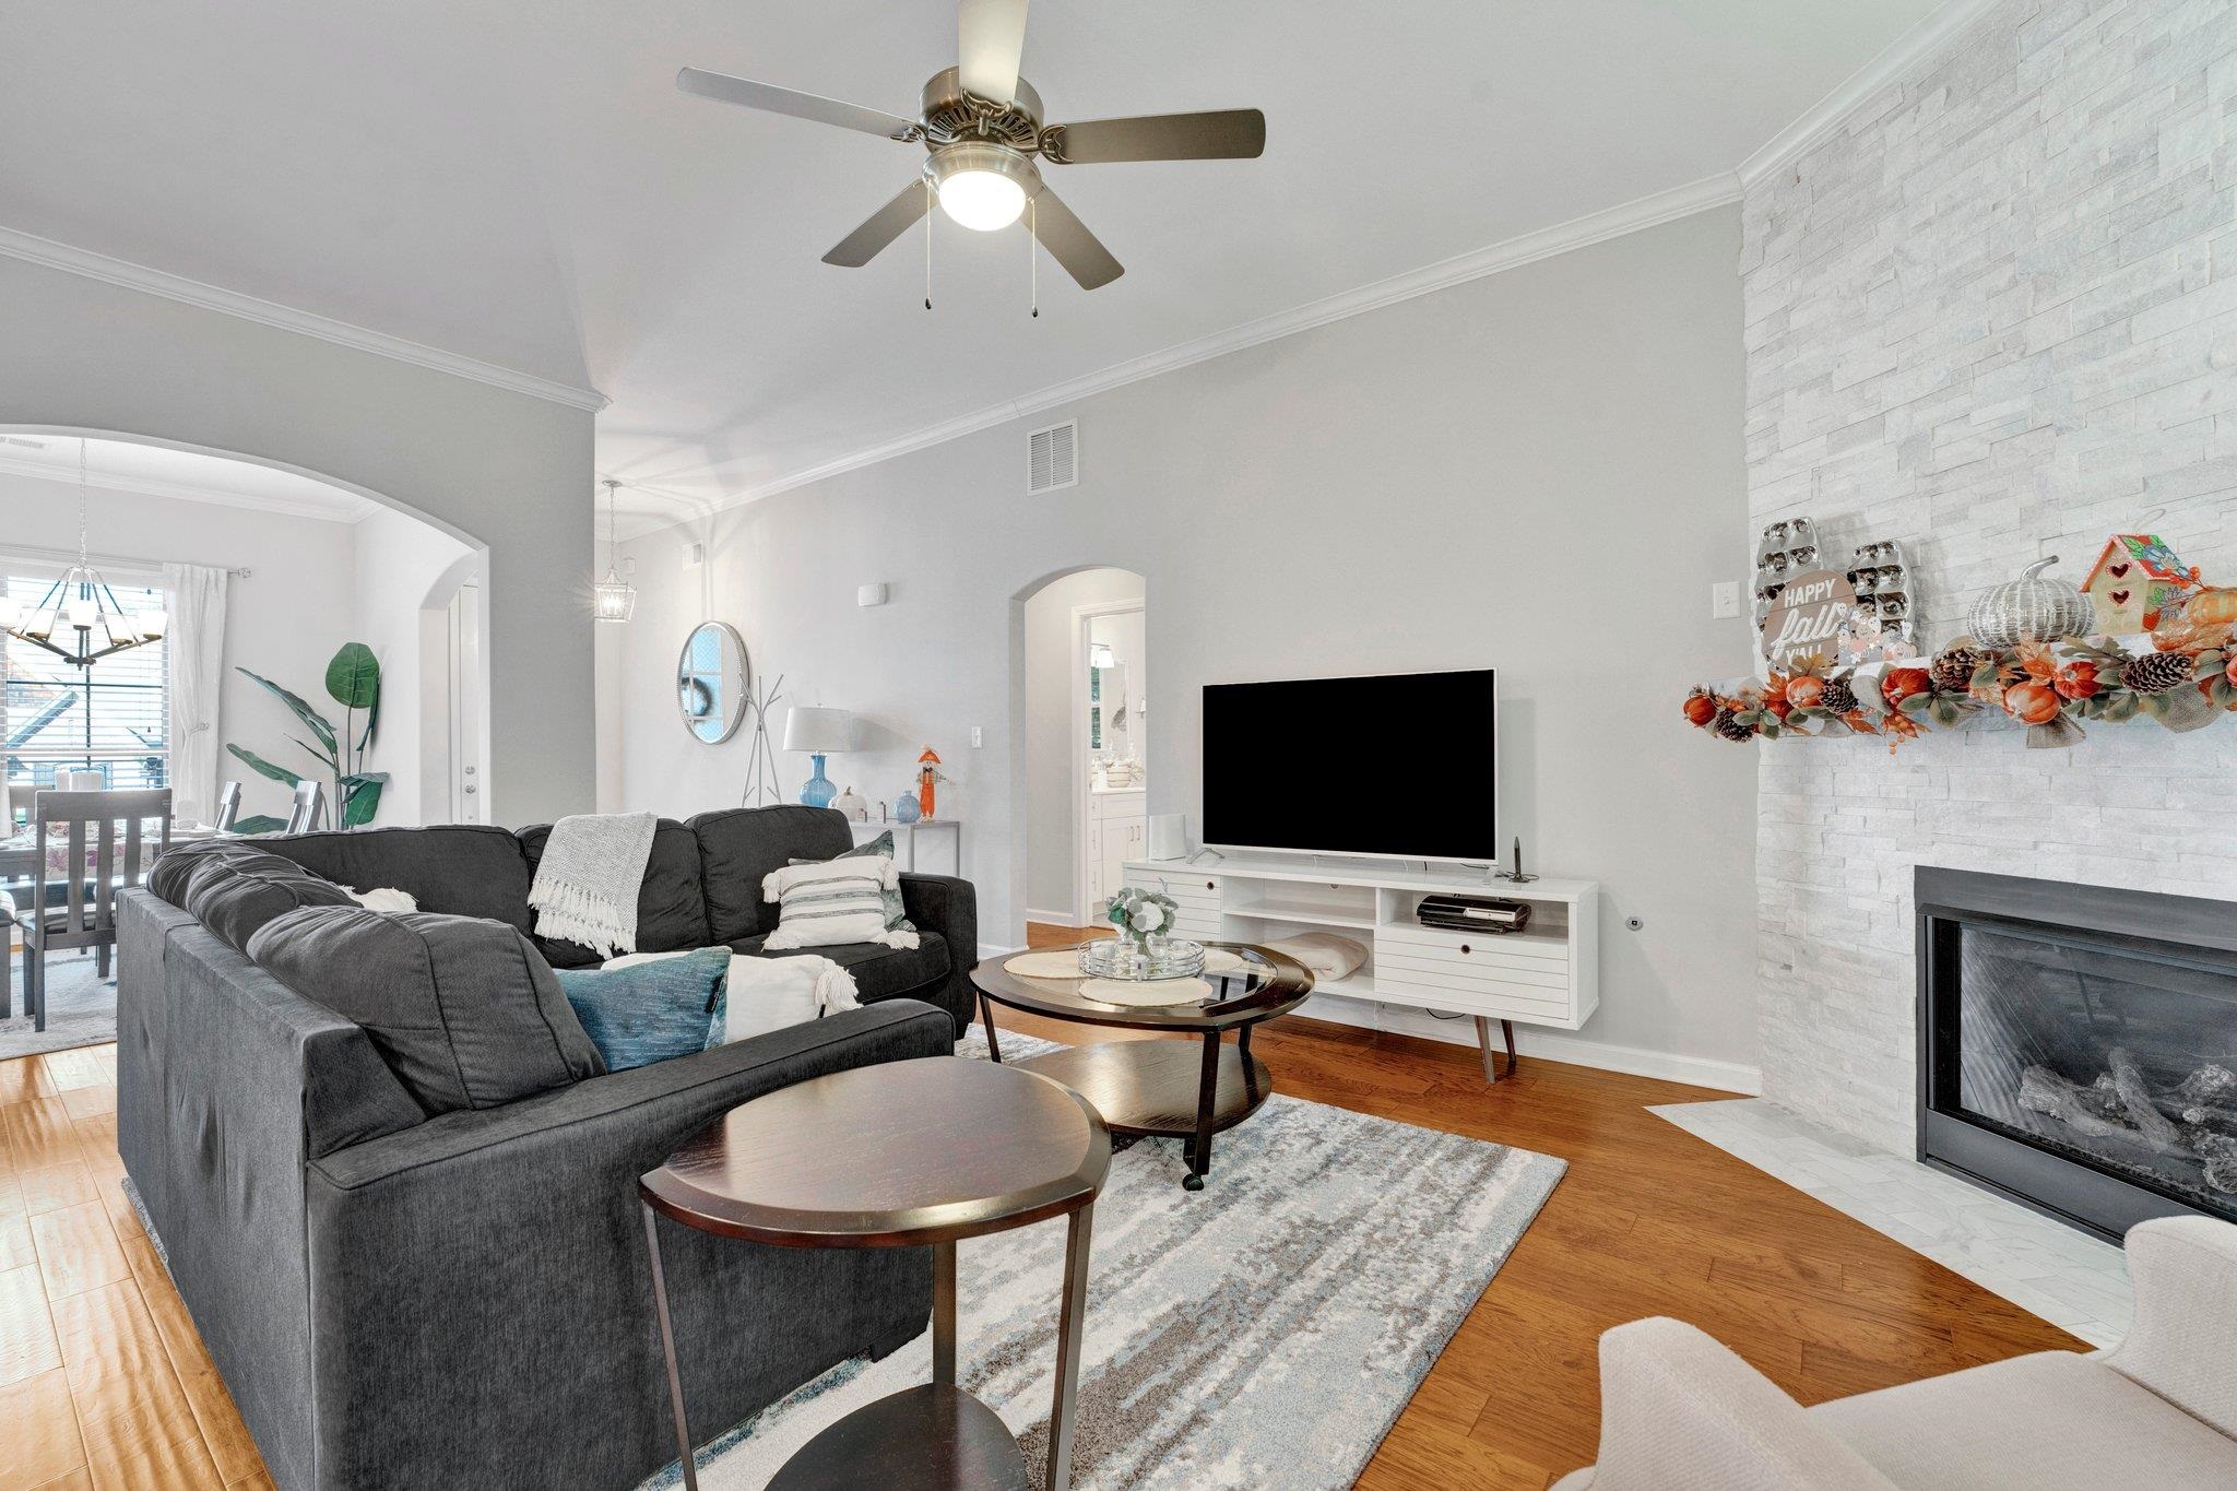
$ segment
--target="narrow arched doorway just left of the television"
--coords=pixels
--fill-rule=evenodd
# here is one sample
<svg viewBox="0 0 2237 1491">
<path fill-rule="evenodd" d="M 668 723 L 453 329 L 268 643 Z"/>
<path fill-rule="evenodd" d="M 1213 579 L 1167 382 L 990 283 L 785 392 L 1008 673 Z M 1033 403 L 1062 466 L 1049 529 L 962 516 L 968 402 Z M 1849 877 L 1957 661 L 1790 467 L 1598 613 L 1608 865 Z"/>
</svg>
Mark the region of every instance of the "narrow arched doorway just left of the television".
<svg viewBox="0 0 2237 1491">
<path fill-rule="evenodd" d="M 1148 856 L 1148 581 L 1087 566 L 1027 588 L 1016 666 L 1013 903 L 1027 923 L 1094 925 L 1118 865 Z"/>
</svg>

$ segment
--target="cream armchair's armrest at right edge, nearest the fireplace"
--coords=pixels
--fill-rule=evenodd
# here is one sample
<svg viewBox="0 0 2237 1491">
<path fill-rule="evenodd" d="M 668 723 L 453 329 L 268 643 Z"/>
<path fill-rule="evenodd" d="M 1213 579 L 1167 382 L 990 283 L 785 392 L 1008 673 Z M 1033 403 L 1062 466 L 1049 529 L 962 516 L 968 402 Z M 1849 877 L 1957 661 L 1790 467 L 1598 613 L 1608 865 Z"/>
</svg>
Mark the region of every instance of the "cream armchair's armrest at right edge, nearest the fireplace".
<svg viewBox="0 0 2237 1491">
<path fill-rule="evenodd" d="M 2123 1241 L 2136 1321 L 2105 1366 L 2237 1437 L 2237 1227 L 2159 1216 Z"/>
</svg>

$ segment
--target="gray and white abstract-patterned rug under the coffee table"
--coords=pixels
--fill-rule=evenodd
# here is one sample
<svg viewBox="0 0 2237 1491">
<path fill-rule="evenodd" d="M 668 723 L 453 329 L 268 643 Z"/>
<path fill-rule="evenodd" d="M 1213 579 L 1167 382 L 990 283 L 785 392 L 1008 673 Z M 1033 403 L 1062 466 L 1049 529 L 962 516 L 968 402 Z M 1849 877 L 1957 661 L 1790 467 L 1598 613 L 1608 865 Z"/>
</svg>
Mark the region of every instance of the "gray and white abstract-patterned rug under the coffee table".
<svg viewBox="0 0 2237 1491">
<path fill-rule="evenodd" d="M 1002 1037 L 1004 1055 L 1047 1048 Z M 960 1053 L 984 1053 L 975 1031 Z M 1177 1140 L 1112 1156 L 1074 1487 L 1349 1487 L 1564 1169 L 1280 1093 L 1215 1140 L 1204 1191 L 1181 1189 Z M 962 1384 L 1022 1440 L 1036 1478 L 1063 1243 L 1065 1227 L 1042 1223 L 957 1247 Z M 928 1381 L 931 1350 L 926 1332 L 832 1368 L 702 1449 L 700 1484 L 758 1491 L 843 1413 Z M 671 1464 L 646 1487 L 678 1480 Z"/>
</svg>

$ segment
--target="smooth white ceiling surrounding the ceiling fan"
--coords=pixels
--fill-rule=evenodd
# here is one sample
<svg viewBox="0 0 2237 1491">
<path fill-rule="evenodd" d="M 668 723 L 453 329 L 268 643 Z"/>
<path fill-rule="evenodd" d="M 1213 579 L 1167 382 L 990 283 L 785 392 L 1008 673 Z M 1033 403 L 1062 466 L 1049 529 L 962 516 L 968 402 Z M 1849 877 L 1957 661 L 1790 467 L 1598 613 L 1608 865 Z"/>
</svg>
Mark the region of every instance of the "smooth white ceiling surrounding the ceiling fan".
<svg viewBox="0 0 2237 1491">
<path fill-rule="evenodd" d="M 727 501 L 1049 384 L 1729 172 L 1935 0 L 1040 0 L 1049 116 L 1266 112 L 1259 161 L 1051 168 L 1080 293 L 942 219 L 821 255 L 922 148 L 676 92 L 913 114 L 944 0 L 13 0 L 0 226 L 613 398 L 600 465 Z M 624 494 L 624 505 L 644 496 Z"/>
</svg>

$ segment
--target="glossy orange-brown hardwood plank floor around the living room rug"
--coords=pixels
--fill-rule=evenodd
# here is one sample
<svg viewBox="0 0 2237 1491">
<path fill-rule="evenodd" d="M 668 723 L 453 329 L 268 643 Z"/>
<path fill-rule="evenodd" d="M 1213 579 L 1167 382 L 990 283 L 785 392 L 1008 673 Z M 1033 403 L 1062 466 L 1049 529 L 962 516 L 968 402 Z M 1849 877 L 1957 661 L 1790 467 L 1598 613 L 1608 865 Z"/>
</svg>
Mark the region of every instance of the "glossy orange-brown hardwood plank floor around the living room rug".
<svg viewBox="0 0 2237 1491">
<path fill-rule="evenodd" d="M 1537 1060 L 1485 1086 L 1467 1046 L 1295 1017 L 1253 1048 L 1277 1091 L 1568 1160 L 1360 1478 L 1371 1491 L 1535 1489 L 1588 1462 L 1595 1341 L 1642 1314 L 1693 1321 L 1803 1402 L 2080 1348 L 1646 1113 L 1725 1093 Z M 0 1062 L 0 1491 L 268 1487 L 121 1174 L 114 1046 Z"/>
</svg>

